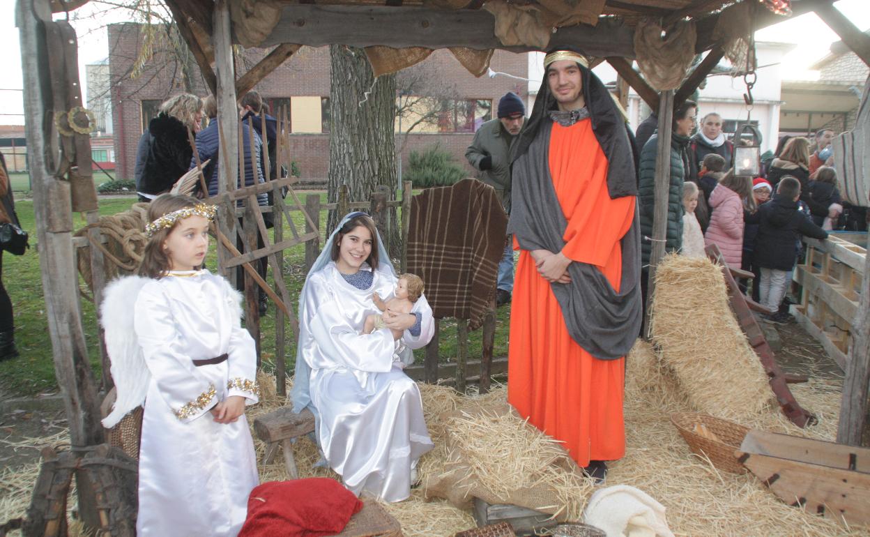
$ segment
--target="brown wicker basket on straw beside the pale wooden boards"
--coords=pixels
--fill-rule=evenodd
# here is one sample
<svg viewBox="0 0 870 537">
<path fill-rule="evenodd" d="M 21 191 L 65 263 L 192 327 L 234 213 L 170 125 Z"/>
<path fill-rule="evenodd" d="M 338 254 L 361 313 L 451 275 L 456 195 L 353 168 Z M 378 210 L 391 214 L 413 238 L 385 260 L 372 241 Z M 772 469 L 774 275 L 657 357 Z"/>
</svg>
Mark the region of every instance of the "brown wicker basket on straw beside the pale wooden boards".
<svg viewBox="0 0 870 537">
<path fill-rule="evenodd" d="M 746 473 L 734 451 L 749 432 L 747 427 L 701 413 L 674 413 L 671 421 L 693 453 L 706 455 L 714 467 L 724 472 Z"/>
</svg>

